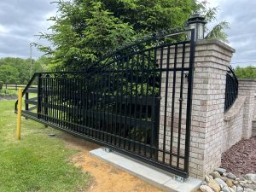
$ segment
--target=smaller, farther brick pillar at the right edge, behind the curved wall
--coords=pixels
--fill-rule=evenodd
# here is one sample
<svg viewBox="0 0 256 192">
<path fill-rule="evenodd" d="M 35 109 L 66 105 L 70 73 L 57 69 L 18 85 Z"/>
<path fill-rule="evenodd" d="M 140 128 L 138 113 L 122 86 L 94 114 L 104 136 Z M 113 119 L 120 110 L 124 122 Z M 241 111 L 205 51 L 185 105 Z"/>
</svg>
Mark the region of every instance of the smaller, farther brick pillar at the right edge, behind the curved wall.
<svg viewBox="0 0 256 192">
<path fill-rule="evenodd" d="M 255 79 L 239 79 L 238 94 L 240 96 L 247 96 L 244 111 L 243 111 L 243 127 L 242 137 L 252 137 L 253 130 L 253 113 L 254 113 L 254 97 L 256 93 Z"/>
</svg>

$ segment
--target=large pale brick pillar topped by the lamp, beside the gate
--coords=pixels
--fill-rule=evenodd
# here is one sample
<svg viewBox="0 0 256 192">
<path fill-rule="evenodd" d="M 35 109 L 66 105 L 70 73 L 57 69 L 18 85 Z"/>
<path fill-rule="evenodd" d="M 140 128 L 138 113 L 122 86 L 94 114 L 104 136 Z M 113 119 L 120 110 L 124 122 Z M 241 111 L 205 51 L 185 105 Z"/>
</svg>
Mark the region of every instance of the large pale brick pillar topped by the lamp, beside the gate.
<svg viewBox="0 0 256 192">
<path fill-rule="evenodd" d="M 225 80 L 234 52 L 217 40 L 196 43 L 189 164 L 192 177 L 204 177 L 220 166 Z"/>
</svg>

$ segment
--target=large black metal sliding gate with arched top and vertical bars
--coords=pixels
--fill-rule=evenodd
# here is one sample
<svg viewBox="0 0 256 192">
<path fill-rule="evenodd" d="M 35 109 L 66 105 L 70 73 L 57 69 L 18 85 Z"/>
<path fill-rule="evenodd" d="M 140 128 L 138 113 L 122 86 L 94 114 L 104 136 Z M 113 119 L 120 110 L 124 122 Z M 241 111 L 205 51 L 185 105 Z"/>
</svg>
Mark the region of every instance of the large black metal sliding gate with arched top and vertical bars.
<svg viewBox="0 0 256 192">
<path fill-rule="evenodd" d="M 194 30 L 163 34 L 86 71 L 35 73 L 22 114 L 188 177 L 194 47 Z"/>
</svg>

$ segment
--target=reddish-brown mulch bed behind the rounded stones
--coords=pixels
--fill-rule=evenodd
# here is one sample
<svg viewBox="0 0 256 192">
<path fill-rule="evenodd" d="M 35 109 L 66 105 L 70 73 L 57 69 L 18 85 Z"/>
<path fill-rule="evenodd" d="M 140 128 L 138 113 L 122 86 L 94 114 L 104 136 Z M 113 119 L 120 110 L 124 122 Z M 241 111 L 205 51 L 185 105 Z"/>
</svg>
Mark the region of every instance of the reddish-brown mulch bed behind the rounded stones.
<svg viewBox="0 0 256 192">
<path fill-rule="evenodd" d="M 224 152 L 221 167 L 236 176 L 256 173 L 256 137 L 241 140 Z"/>
</svg>

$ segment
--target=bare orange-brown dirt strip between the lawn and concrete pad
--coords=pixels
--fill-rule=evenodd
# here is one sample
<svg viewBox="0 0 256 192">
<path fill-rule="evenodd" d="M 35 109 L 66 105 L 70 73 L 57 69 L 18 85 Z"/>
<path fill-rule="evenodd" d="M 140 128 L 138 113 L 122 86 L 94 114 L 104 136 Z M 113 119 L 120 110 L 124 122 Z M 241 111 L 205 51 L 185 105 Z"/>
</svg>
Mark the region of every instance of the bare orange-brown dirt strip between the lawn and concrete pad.
<svg viewBox="0 0 256 192">
<path fill-rule="evenodd" d="M 56 137 L 61 137 L 67 148 L 79 150 L 79 154 L 73 157 L 73 164 L 82 168 L 84 172 L 90 172 L 94 177 L 90 184 L 89 192 L 161 192 L 163 190 L 157 189 L 142 179 L 124 172 L 108 163 L 99 160 L 90 155 L 90 150 L 100 148 L 100 146 L 80 139 L 78 137 L 61 134 Z"/>
</svg>

